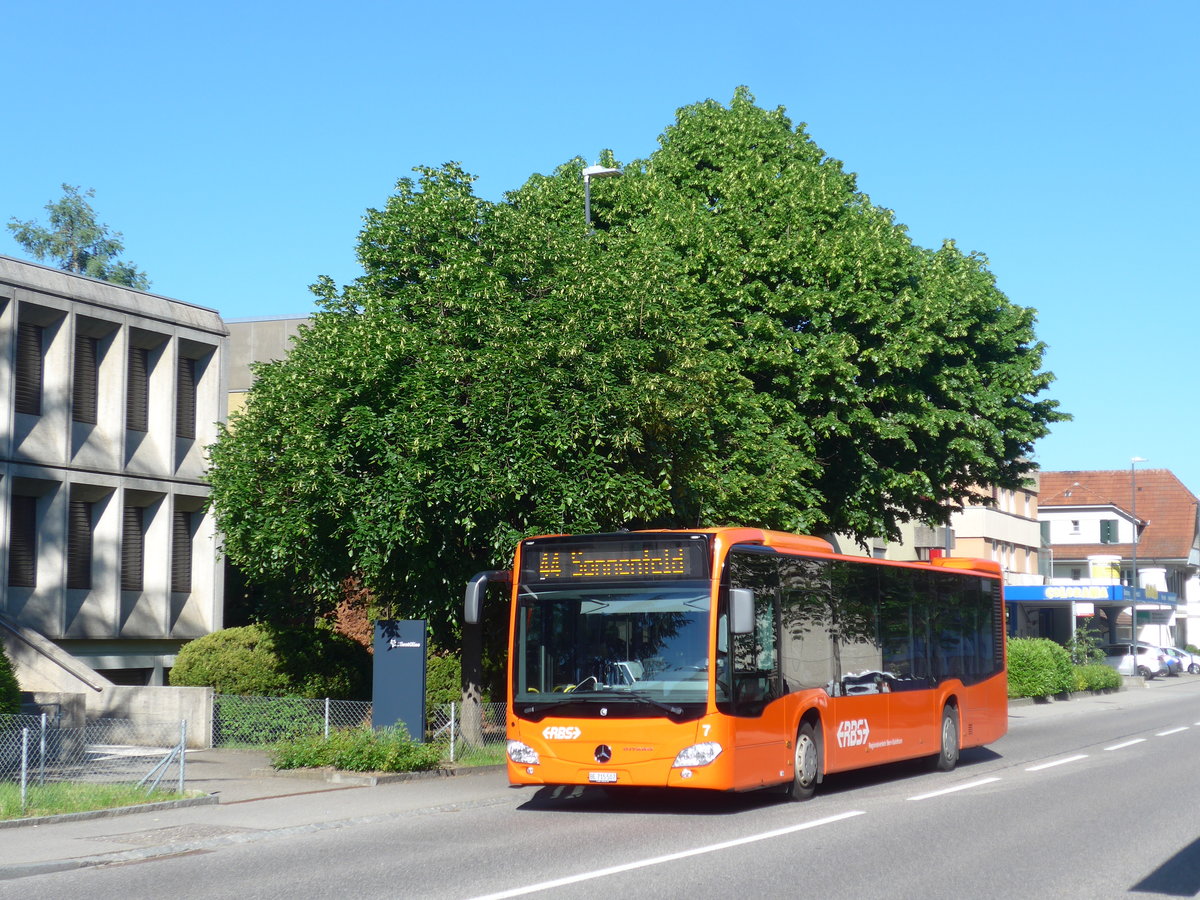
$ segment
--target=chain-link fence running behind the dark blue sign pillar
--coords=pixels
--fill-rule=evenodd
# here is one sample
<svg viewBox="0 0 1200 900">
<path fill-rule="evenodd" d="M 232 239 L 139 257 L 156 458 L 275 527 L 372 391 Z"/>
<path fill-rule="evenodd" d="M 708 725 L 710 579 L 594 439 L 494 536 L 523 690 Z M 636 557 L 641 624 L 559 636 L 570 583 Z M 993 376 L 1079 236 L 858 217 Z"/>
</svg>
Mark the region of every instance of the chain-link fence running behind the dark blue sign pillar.
<svg viewBox="0 0 1200 900">
<path fill-rule="evenodd" d="M 361 700 L 304 697 L 212 698 L 212 746 L 270 746 L 340 728 L 370 727 L 372 704 Z M 482 764 L 504 761 L 504 704 L 484 703 L 478 722 L 463 721 L 461 703 L 430 707 L 418 739 L 444 746 L 446 762 Z M 464 727 L 466 725 L 466 727 Z"/>
</svg>

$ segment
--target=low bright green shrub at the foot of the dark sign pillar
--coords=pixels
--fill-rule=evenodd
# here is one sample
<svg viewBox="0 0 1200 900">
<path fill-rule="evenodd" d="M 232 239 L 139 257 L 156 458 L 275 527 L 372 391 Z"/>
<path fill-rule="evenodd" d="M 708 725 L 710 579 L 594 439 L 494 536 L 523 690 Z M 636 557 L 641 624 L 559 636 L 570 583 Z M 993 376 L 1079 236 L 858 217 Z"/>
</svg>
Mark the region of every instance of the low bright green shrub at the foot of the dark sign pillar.
<svg viewBox="0 0 1200 900">
<path fill-rule="evenodd" d="M 403 725 L 391 728 L 346 728 L 324 737 L 283 740 L 271 749 L 277 769 L 332 766 L 348 772 L 422 772 L 437 768 L 442 751 L 419 744 Z"/>
</svg>

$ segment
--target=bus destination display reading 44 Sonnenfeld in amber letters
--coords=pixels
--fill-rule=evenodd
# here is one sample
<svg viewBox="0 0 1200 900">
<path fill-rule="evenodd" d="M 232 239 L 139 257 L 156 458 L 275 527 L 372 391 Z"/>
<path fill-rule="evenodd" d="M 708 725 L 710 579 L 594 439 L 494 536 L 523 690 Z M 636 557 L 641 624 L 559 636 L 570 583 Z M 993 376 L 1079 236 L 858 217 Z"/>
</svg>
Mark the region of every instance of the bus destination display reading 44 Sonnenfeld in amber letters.
<svg viewBox="0 0 1200 900">
<path fill-rule="evenodd" d="M 521 554 L 524 584 L 684 581 L 707 578 L 708 572 L 708 541 L 700 535 L 620 540 L 546 538 L 526 541 Z"/>
</svg>

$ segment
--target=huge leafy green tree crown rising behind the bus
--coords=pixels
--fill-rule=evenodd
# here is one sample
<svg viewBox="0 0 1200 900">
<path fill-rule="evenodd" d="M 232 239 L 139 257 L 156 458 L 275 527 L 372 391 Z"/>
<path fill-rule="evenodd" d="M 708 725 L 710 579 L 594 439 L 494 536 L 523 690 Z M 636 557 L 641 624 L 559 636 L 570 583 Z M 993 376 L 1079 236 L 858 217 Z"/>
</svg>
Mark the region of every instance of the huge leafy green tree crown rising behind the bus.
<svg viewBox="0 0 1200 900">
<path fill-rule="evenodd" d="M 611 157 L 605 158 L 612 164 Z M 744 89 L 647 160 L 499 203 L 403 179 L 212 448 L 226 551 L 331 602 L 355 574 L 445 646 L 522 535 L 744 523 L 860 538 L 1015 487 L 1056 404 L 1031 310 L 914 246 Z M 308 608 L 302 606 L 301 608 Z"/>
</svg>

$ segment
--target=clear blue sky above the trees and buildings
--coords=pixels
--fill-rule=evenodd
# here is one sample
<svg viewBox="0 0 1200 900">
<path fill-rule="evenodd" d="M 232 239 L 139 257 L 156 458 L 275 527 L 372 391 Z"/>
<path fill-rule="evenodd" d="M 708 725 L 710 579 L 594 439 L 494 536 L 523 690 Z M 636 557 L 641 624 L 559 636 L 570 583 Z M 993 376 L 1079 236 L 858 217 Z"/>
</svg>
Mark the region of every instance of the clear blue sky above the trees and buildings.
<svg viewBox="0 0 1200 900">
<path fill-rule="evenodd" d="M 1200 4 L 10 4 L 0 218 L 68 182 L 152 290 L 306 314 L 362 212 L 456 160 L 500 199 L 749 85 L 924 246 L 1038 311 L 1075 420 L 1046 469 L 1172 469 L 1200 494 Z M 0 253 L 23 256 L 7 229 Z"/>
</svg>

